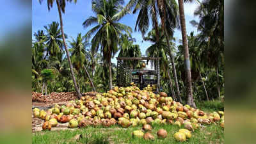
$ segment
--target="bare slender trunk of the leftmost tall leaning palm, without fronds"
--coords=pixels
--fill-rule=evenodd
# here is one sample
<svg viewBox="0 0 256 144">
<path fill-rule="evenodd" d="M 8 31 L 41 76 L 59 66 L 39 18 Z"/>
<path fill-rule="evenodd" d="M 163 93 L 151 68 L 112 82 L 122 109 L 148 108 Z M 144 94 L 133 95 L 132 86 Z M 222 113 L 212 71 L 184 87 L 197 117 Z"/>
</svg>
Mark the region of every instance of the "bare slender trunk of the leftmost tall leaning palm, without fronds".
<svg viewBox="0 0 256 144">
<path fill-rule="evenodd" d="M 71 77 L 72 77 L 72 80 L 73 80 L 73 83 L 74 83 L 74 86 L 75 86 L 75 89 L 76 89 L 77 97 L 80 99 L 82 97 L 82 95 L 81 95 L 81 93 L 80 93 L 80 91 L 77 87 L 76 78 L 74 76 L 72 63 L 71 63 L 71 60 L 70 60 L 70 57 L 69 57 L 69 52 L 68 52 L 68 49 L 67 49 L 67 44 L 66 44 L 66 40 L 65 40 L 65 36 L 64 36 L 64 31 L 63 31 L 63 22 L 62 22 L 62 15 L 61 15 L 61 8 L 60 8 L 59 0 L 56 0 L 56 3 L 57 3 L 57 6 L 58 6 L 58 12 L 59 12 L 59 15 L 60 15 L 61 35 L 62 35 L 63 44 L 64 44 L 65 51 L 66 51 L 67 58 L 68 58 L 68 63 L 69 63 L 70 71 L 71 71 Z"/>
</svg>

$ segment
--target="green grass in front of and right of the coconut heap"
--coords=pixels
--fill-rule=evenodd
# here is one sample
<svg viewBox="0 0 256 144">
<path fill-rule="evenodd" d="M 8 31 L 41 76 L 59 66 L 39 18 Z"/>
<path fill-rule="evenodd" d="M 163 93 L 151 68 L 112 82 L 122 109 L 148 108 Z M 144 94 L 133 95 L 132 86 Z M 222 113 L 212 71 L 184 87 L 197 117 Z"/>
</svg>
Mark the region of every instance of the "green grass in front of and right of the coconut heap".
<svg viewBox="0 0 256 144">
<path fill-rule="evenodd" d="M 204 102 L 198 105 L 198 108 L 207 111 L 221 110 L 221 104 L 214 102 Z M 203 107 L 206 106 L 206 107 Z M 47 131 L 47 132 L 35 132 L 32 137 L 32 143 L 35 144 L 65 144 L 65 143 L 90 143 L 90 144 L 108 144 L 108 143 L 180 143 L 175 141 L 173 134 L 179 131 L 180 128 L 177 125 L 152 125 L 152 134 L 154 135 L 154 141 L 146 141 L 143 138 L 132 138 L 132 132 L 140 130 L 142 125 L 136 127 L 129 127 L 128 129 L 122 129 L 117 125 L 112 127 L 86 127 L 83 129 L 75 129 L 74 131 Z M 157 131 L 159 129 L 165 129 L 168 132 L 168 136 L 165 139 L 157 138 Z M 77 134 L 81 134 L 79 140 L 74 140 Z M 224 143 L 224 131 L 220 127 L 220 124 L 204 125 L 204 127 L 196 130 L 192 133 L 192 138 L 183 143 L 195 143 L 195 144 L 209 144 L 209 143 Z"/>
</svg>

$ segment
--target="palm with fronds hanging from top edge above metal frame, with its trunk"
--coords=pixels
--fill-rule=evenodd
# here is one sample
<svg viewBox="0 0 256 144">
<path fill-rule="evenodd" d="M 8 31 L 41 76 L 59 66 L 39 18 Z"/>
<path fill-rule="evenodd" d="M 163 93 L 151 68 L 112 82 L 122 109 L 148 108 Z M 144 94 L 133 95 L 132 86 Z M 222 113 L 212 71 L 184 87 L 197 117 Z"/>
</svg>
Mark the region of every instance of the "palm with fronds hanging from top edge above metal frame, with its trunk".
<svg viewBox="0 0 256 144">
<path fill-rule="evenodd" d="M 125 8 L 120 13 L 118 13 L 118 15 L 115 15 L 115 17 L 122 17 L 123 15 L 127 14 L 129 10 L 131 10 L 131 8 L 134 8 L 133 13 L 136 13 L 138 10 L 140 11 L 138 18 L 136 20 L 135 30 L 137 29 L 138 26 L 138 30 L 141 31 L 143 36 L 148 30 L 149 21 L 151 19 L 153 24 L 152 27 L 156 31 L 156 39 L 157 41 L 159 40 L 157 17 L 161 17 L 162 26 L 166 26 L 166 28 L 168 28 L 165 30 L 167 32 L 167 37 L 173 35 L 174 28 L 179 27 L 178 7 L 175 0 L 130 0 L 129 3 L 127 3 L 127 5 L 125 6 Z M 163 15 L 163 12 L 165 13 L 165 15 Z M 164 16 L 165 18 L 163 18 Z M 167 40 L 167 42 L 169 42 L 169 40 Z M 171 50 L 170 43 L 168 44 L 168 46 L 170 47 Z M 177 95 L 179 95 L 180 97 L 179 84 L 177 80 L 177 74 L 172 55 L 172 51 L 170 51 L 175 86 L 177 88 Z"/>
</svg>

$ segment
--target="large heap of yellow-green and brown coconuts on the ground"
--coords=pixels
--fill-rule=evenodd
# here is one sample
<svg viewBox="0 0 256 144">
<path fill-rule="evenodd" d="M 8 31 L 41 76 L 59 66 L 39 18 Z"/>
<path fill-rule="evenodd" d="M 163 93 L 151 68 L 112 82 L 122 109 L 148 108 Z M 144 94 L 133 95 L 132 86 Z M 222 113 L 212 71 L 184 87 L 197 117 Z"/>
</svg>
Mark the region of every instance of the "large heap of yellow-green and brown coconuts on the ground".
<svg viewBox="0 0 256 144">
<path fill-rule="evenodd" d="M 35 108 L 33 116 L 45 121 L 43 130 L 51 130 L 51 127 L 59 123 L 68 123 L 70 128 L 88 125 L 109 127 L 118 124 L 127 128 L 145 124 L 172 124 L 184 125 L 189 131 L 198 129 L 202 124 L 216 123 L 224 127 L 223 111 L 205 113 L 173 101 L 164 92 L 154 93 L 156 86 L 148 85 L 140 90 L 134 83 L 131 84 L 125 88 L 116 86 L 113 90 L 95 96 L 86 95 L 63 106 L 56 104 L 47 111 Z"/>
</svg>

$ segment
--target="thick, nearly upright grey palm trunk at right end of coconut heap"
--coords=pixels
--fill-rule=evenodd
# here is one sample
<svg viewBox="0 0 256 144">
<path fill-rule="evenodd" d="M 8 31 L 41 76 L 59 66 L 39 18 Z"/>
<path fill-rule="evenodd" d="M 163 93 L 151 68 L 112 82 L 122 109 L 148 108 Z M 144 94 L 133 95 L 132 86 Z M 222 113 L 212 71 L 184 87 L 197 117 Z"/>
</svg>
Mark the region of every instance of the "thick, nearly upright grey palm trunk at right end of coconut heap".
<svg viewBox="0 0 256 144">
<path fill-rule="evenodd" d="M 179 12 L 180 12 L 180 26 L 182 32 L 182 44 L 185 48 L 185 63 L 186 63 L 186 77 L 187 77 L 187 104 L 196 108 L 196 104 L 193 99 L 193 90 L 191 84 L 191 70 L 190 70 L 190 61 L 189 61 L 189 51 L 188 51 L 188 40 L 187 40 L 187 31 L 186 31 L 186 20 L 185 20 L 185 13 L 184 13 L 184 0 L 179 1 Z"/>
</svg>

